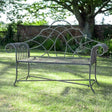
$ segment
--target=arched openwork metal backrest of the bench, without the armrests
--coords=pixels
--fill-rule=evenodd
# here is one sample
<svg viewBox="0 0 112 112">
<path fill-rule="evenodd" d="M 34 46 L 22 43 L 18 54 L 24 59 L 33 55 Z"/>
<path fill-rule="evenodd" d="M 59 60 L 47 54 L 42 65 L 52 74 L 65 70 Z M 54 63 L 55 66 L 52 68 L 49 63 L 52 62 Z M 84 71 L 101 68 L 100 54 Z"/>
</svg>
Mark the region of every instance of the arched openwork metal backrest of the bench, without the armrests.
<svg viewBox="0 0 112 112">
<path fill-rule="evenodd" d="M 54 51 L 55 56 L 58 56 L 58 51 L 63 51 L 63 56 L 68 54 L 72 56 L 78 55 L 81 52 L 91 52 L 93 45 L 98 41 L 88 38 L 79 28 L 74 28 L 69 22 L 59 20 L 53 22 L 48 28 L 34 38 L 27 40 L 30 49 L 44 50 L 41 56 L 50 56 L 50 51 Z"/>
</svg>

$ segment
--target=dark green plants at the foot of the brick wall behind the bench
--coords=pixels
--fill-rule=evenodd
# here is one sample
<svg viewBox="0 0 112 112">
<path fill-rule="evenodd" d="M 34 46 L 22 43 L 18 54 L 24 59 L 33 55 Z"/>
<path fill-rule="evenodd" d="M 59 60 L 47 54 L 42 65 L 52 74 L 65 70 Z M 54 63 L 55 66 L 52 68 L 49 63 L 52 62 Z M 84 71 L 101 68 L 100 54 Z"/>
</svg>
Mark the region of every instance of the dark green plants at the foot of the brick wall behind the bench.
<svg viewBox="0 0 112 112">
<path fill-rule="evenodd" d="M 66 41 L 65 41 L 66 40 Z M 98 42 L 100 42 L 98 39 L 95 39 L 96 41 L 90 41 L 90 39 L 88 38 L 78 38 L 76 40 L 71 38 L 71 36 L 69 34 L 67 34 L 65 36 L 65 40 L 63 38 L 56 38 L 56 37 L 52 37 L 52 38 L 48 38 L 47 37 L 36 37 L 34 39 L 34 41 L 29 42 L 29 46 L 30 48 L 37 48 L 39 50 L 49 50 L 49 51 L 62 51 L 62 52 L 67 52 L 67 53 L 73 53 L 73 52 L 77 52 L 77 54 L 79 55 L 90 55 L 91 54 L 91 49 L 93 48 L 93 46 L 95 46 L 96 44 L 98 44 Z M 70 40 L 70 41 L 69 41 Z M 112 41 L 112 40 L 111 40 Z M 112 45 L 109 43 L 109 40 L 105 40 L 102 43 L 106 43 L 109 47 L 108 52 L 105 54 L 105 56 L 110 56 L 110 54 L 112 53 Z M 99 47 L 98 49 L 98 54 L 102 54 L 103 49 Z"/>
</svg>

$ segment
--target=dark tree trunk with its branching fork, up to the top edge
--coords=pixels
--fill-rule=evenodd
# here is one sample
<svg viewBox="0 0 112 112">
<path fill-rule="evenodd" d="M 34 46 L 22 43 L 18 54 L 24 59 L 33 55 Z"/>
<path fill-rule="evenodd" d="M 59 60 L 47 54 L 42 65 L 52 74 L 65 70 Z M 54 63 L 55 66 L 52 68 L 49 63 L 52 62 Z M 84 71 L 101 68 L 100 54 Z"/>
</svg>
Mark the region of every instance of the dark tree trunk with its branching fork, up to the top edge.
<svg viewBox="0 0 112 112">
<path fill-rule="evenodd" d="M 89 38 L 92 38 L 92 36 L 94 35 L 95 8 L 92 7 L 90 4 L 81 3 L 80 6 L 78 4 L 78 0 L 74 0 L 72 4 L 73 4 L 72 13 L 75 15 L 76 19 L 78 20 L 80 29 L 83 31 L 83 33 L 87 34 Z"/>
</svg>

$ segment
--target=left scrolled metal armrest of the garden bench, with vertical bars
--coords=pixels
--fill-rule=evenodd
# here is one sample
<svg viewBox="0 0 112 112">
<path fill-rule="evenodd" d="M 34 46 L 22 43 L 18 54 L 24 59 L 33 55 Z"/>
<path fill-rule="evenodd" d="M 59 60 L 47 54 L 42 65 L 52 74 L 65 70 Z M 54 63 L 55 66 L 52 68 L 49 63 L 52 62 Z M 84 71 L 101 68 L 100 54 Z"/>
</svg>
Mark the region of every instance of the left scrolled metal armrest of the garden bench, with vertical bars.
<svg viewBox="0 0 112 112">
<path fill-rule="evenodd" d="M 29 45 L 25 42 L 9 43 L 5 46 L 6 52 L 15 51 L 16 61 L 30 56 Z"/>
</svg>

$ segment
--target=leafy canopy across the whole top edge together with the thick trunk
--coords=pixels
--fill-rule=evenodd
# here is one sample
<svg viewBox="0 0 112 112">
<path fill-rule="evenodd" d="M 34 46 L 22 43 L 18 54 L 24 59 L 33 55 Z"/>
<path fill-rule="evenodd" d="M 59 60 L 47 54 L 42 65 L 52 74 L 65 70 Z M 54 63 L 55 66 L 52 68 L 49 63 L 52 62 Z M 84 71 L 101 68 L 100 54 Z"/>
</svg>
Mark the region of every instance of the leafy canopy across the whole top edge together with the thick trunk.
<svg viewBox="0 0 112 112">
<path fill-rule="evenodd" d="M 0 13 L 6 13 L 10 21 L 26 16 L 34 20 L 45 20 L 46 17 L 58 20 L 74 15 L 81 30 L 89 37 L 94 35 L 96 15 L 110 14 L 112 10 L 112 0 L 37 0 L 29 5 L 23 1 L 27 0 L 1 0 Z"/>
</svg>

